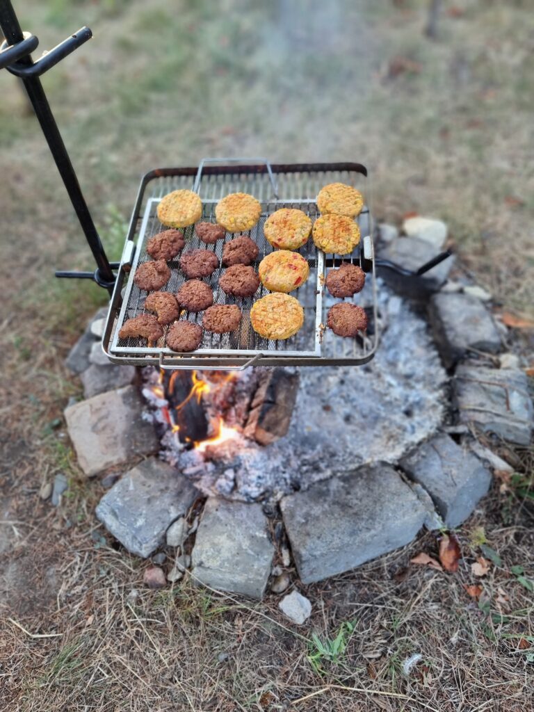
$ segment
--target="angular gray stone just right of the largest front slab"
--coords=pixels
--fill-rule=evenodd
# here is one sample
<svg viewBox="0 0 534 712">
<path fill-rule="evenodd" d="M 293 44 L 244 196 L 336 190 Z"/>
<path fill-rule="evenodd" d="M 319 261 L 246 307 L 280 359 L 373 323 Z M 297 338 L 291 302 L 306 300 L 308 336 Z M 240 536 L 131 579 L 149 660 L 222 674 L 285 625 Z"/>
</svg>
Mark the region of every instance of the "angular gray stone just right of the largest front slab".
<svg viewBox="0 0 534 712">
<path fill-rule="evenodd" d="M 478 457 L 449 435 L 436 435 L 400 464 L 426 489 L 448 528 L 468 518 L 491 484 L 491 473 Z"/>
</svg>

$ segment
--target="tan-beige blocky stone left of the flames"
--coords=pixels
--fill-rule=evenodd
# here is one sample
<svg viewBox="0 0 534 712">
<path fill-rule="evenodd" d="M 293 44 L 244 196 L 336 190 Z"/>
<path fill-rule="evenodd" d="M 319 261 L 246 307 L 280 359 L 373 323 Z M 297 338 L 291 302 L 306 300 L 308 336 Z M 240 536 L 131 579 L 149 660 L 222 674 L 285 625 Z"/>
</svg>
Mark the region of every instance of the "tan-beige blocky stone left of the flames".
<svg viewBox="0 0 534 712">
<path fill-rule="evenodd" d="M 78 464 L 90 476 L 159 449 L 154 426 L 142 418 L 137 388 L 108 391 L 65 410 Z"/>
</svg>

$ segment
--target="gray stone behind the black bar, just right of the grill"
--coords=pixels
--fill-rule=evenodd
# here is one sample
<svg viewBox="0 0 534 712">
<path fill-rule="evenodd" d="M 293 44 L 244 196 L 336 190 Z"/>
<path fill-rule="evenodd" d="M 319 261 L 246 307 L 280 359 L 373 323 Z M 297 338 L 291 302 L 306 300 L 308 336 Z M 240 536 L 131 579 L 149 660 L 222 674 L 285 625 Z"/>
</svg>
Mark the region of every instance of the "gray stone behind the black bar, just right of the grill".
<svg viewBox="0 0 534 712">
<path fill-rule="evenodd" d="M 416 272 L 419 267 L 422 267 L 438 253 L 439 249 L 417 237 L 399 237 L 398 240 L 379 246 L 378 256 L 399 267 Z M 417 278 L 400 275 L 382 266 L 379 267 L 378 273 L 399 294 L 422 298 L 429 292 L 439 290 L 449 276 L 453 264 L 454 256 L 448 257 Z"/>
</svg>

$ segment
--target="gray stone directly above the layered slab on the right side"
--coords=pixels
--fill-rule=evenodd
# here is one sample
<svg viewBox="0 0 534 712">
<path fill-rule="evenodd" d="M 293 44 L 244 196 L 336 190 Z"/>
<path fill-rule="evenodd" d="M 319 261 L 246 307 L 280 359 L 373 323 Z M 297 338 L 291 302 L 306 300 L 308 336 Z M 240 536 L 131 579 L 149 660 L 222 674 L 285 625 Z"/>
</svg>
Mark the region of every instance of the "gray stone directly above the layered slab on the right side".
<svg viewBox="0 0 534 712">
<path fill-rule="evenodd" d="M 496 353 L 501 336 L 486 307 L 466 294 L 435 294 L 429 304 L 429 319 L 436 345 L 446 367 L 468 350 Z"/>
</svg>

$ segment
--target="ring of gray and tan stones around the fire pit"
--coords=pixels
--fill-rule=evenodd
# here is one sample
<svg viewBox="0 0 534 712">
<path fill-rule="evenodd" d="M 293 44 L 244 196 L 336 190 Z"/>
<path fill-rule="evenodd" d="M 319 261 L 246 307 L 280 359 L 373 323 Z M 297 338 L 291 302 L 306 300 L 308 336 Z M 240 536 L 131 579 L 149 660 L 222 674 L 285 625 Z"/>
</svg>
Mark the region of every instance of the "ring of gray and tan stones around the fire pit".
<svg viewBox="0 0 534 712">
<path fill-rule="evenodd" d="M 380 226 L 379 254 L 412 269 L 439 251 L 447 234 L 443 223 L 423 218 L 405 221 L 403 232 Z M 533 405 L 519 358 L 503 353 L 508 332 L 488 309 L 491 295 L 459 269 L 449 278 L 451 263 L 427 273 L 417 294 L 407 281 L 384 274 L 403 309 L 420 313 L 417 297 L 428 305 L 426 330 L 451 386 L 439 428 L 394 462 L 375 458 L 286 494 L 275 513 L 282 523 L 271 528 L 272 508 L 267 515 L 261 503 L 222 496 L 209 496 L 191 521 L 199 490 L 157 457 L 159 439 L 135 368 L 110 365 L 101 350 L 100 311 L 66 361 L 82 379 L 85 400 L 70 404 L 65 417 L 82 471 L 104 474 L 109 489 L 96 515 L 105 528 L 131 553 L 160 565 L 175 548 L 169 581 L 190 568 L 210 587 L 259 599 L 270 580 L 273 592 L 288 587 L 291 557 L 300 582 L 309 584 L 406 545 L 422 527 L 459 526 L 487 493 L 491 468 L 512 469 L 473 434 L 528 444 Z M 138 464 L 127 469 L 132 461 Z M 118 478 L 117 471 L 125 472 Z M 290 613 L 300 622 L 307 616 L 302 601 L 296 601 L 300 618 Z M 289 611 L 290 602 L 281 607 Z"/>
</svg>

